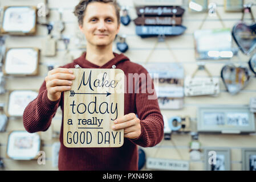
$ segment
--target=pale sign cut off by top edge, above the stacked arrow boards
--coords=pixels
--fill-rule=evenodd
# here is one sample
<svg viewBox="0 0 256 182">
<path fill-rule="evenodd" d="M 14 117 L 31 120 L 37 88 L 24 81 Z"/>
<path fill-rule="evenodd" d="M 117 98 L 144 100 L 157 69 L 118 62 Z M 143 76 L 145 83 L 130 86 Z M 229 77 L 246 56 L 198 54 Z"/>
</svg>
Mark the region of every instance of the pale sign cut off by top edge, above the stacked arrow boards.
<svg viewBox="0 0 256 182">
<path fill-rule="evenodd" d="M 175 5 L 175 6 L 181 6 L 182 0 L 133 0 L 133 4 L 135 6 L 169 6 L 169 5 Z"/>
</svg>

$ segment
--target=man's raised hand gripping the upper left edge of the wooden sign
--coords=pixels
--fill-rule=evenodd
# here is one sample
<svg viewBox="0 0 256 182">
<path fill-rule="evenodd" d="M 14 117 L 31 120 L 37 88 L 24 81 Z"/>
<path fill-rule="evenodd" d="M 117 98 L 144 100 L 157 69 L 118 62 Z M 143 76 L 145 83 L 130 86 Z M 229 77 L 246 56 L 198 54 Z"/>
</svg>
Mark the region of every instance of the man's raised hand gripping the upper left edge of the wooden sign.
<svg viewBox="0 0 256 182">
<path fill-rule="evenodd" d="M 48 72 L 45 77 L 47 97 L 51 101 L 59 100 L 62 92 L 70 90 L 72 81 L 75 79 L 73 71 L 68 68 L 56 68 Z"/>
</svg>

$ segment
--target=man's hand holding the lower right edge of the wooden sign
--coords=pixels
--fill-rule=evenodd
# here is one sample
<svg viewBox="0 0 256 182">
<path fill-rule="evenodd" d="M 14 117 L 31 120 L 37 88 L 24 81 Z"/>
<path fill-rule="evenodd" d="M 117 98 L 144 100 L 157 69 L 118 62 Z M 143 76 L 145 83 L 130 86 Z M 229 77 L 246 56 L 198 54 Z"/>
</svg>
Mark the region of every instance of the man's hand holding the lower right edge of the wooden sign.
<svg viewBox="0 0 256 182">
<path fill-rule="evenodd" d="M 124 129 L 124 137 L 135 139 L 141 134 L 140 119 L 136 117 L 136 114 L 129 113 L 121 118 L 116 119 L 112 129 Z"/>
</svg>

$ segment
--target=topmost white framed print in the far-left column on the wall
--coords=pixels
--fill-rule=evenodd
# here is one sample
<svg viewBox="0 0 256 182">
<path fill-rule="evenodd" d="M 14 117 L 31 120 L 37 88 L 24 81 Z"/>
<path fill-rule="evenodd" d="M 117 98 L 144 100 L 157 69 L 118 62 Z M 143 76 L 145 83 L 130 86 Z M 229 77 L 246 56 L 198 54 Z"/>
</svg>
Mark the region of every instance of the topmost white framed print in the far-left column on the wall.
<svg viewBox="0 0 256 182">
<path fill-rule="evenodd" d="M 34 35 L 36 33 L 36 7 L 6 6 L 3 11 L 2 34 Z"/>
</svg>

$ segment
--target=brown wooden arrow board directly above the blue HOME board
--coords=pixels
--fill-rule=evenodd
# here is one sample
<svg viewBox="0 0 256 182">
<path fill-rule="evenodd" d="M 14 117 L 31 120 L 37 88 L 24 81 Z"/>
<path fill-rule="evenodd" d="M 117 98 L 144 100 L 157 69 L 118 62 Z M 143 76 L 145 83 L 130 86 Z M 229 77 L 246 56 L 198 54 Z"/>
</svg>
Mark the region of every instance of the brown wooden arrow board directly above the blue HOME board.
<svg viewBox="0 0 256 182">
<path fill-rule="evenodd" d="M 181 17 L 144 16 L 134 20 L 136 25 L 181 25 Z"/>
</svg>

